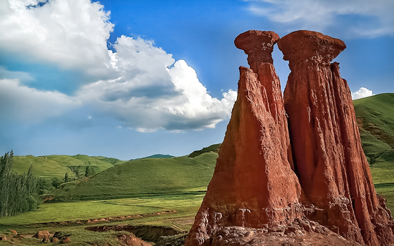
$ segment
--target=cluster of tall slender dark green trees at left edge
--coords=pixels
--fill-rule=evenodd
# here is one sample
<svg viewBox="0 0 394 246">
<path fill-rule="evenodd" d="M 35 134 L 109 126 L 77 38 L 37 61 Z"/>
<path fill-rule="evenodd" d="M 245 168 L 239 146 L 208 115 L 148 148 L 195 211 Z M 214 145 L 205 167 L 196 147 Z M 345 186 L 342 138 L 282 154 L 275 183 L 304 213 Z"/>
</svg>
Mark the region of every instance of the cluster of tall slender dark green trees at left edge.
<svg viewBox="0 0 394 246">
<path fill-rule="evenodd" d="M 0 158 L 0 217 L 33 211 L 40 203 L 33 166 L 27 174 L 18 175 L 13 171 L 13 156 L 11 151 Z"/>
</svg>

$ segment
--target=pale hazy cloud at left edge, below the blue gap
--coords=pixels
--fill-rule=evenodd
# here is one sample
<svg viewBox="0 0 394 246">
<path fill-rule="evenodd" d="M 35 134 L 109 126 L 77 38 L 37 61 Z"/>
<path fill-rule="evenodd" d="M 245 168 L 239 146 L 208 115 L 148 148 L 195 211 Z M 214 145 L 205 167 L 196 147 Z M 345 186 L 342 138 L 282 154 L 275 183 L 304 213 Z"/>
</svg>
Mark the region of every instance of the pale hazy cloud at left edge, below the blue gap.
<svg viewBox="0 0 394 246">
<path fill-rule="evenodd" d="M 0 80 L 0 120 L 37 123 L 79 107 L 78 98 L 60 92 L 43 92 L 17 80 Z"/>
</svg>

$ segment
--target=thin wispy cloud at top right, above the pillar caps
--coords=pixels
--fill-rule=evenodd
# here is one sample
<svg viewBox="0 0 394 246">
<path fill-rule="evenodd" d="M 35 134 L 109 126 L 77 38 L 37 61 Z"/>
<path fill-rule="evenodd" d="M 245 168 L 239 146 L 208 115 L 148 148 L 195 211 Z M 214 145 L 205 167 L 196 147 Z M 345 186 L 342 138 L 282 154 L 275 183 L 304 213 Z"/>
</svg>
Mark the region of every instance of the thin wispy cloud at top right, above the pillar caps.
<svg viewBox="0 0 394 246">
<path fill-rule="evenodd" d="M 291 29 L 334 28 L 357 36 L 394 36 L 394 1 L 253 0 L 249 9 Z"/>
</svg>

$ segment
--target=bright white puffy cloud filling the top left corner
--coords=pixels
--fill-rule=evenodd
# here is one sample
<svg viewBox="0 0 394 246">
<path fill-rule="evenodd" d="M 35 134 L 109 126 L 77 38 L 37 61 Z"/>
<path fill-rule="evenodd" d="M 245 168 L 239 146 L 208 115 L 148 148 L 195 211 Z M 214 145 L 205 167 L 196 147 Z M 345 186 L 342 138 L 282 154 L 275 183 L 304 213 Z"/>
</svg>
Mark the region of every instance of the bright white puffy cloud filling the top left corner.
<svg viewBox="0 0 394 246">
<path fill-rule="evenodd" d="M 1 0 L 0 49 L 89 74 L 108 72 L 109 12 L 90 0 L 39 2 Z"/>
</svg>

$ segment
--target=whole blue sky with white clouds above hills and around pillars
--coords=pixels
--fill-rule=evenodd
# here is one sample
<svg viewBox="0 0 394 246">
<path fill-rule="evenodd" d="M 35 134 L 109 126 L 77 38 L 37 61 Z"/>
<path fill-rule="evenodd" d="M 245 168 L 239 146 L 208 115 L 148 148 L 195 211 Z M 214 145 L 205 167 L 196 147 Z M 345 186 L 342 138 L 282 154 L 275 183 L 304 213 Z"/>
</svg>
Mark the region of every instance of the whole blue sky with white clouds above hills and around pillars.
<svg viewBox="0 0 394 246">
<path fill-rule="evenodd" d="M 391 0 L 1 0 L 0 155 L 182 156 L 221 143 L 244 31 L 319 31 L 354 99 L 394 92 Z M 282 90 L 290 73 L 275 46 Z"/>
</svg>

